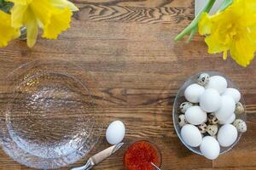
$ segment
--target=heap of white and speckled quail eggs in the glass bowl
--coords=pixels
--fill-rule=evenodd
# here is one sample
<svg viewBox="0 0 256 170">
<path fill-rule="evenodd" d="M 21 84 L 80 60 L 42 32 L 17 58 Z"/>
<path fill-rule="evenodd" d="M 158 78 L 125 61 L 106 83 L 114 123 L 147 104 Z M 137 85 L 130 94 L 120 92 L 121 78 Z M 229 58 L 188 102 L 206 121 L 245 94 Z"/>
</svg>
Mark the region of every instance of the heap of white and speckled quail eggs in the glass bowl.
<svg viewBox="0 0 256 170">
<path fill-rule="evenodd" d="M 187 101 L 179 106 L 178 116 L 181 138 L 190 147 L 199 147 L 207 159 L 216 159 L 220 147 L 231 146 L 238 133 L 247 131 L 246 122 L 236 118 L 245 110 L 241 93 L 228 88 L 224 77 L 201 73 L 185 89 L 184 97 Z"/>
</svg>

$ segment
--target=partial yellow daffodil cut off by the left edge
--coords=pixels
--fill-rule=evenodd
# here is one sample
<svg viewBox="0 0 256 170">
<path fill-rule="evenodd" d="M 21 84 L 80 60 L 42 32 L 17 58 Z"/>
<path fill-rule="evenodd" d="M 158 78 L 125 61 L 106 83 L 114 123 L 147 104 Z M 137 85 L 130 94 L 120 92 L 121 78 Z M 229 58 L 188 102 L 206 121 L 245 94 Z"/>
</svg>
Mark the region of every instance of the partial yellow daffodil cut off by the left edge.
<svg viewBox="0 0 256 170">
<path fill-rule="evenodd" d="M 20 29 L 15 29 L 11 26 L 10 14 L 0 10 L 0 47 L 7 46 L 8 42 L 20 36 Z"/>
</svg>

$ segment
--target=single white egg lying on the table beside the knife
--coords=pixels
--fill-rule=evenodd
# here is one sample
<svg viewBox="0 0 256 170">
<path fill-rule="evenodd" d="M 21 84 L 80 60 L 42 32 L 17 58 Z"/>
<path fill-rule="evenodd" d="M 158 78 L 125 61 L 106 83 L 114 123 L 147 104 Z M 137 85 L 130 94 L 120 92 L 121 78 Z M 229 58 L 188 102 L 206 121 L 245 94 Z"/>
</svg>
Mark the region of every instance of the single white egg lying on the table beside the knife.
<svg viewBox="0 0 256 170">
<path fill-rule="evenodd" d="M 106 139 L 109 144 L 119 144 L 125 137 L 125 125 L 123 122 L 114 121 L 108 125 Z"/>
</svg>

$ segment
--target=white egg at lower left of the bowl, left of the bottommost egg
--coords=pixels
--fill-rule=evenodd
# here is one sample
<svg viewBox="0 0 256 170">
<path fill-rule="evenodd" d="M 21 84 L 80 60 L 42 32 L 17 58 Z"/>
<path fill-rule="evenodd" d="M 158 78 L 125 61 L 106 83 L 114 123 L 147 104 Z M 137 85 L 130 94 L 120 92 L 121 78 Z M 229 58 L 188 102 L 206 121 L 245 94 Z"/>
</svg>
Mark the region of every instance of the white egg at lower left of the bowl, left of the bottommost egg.
<svg viewBox="0 0 256 170">
<path fill-rule="evenodd" d="M 183 141 L 189 146 L 197 147 L 201 144 L 201 133 L 197 127 L 191 124 L 186 124 L 181 129 Z"/>
</svg>

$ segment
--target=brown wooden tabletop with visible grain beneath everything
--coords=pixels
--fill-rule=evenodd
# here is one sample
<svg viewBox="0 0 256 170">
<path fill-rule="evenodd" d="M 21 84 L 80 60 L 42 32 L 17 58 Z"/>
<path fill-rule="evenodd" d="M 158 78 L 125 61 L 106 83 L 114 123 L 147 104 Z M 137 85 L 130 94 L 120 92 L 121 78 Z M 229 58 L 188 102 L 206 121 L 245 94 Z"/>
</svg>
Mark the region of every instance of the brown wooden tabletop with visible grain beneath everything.
<svg viewBox="0 0 256 170">
<path fill-rule="evenodd" d="M 108 98 L 106 123 L 125 122 L 125 147 L 139 139 L 157 144 L 162 169 L 256 169 L 256 60 L 242 68 L 221 54 L 207 54 L 203 38 L 173 42 L 194 17 L 193 0 L 76 0 L 80 11 L 56 41 L 38 38 L 34 48 L 15 41 L 0 49 L 1 82 L 32 59 L 64 59 L 90 71 Z M 208 161 L 186 149 L 172 124 L 177 89 L 198 71 L 220 71 L 241 88 L 247 133 L 230 152 Z M 4 92 L 2 92 L 4 93 Z M 90 155 L 108 147 L 104 134 Z M 95 169 L 124 169 L 125 147 Z M 89 156 L 76 163 L 80 165 Z M 0 150 L 0 169 L 26 169 Z M 68 169 L 68 168 L 63 168 Z"/>
</svg>

